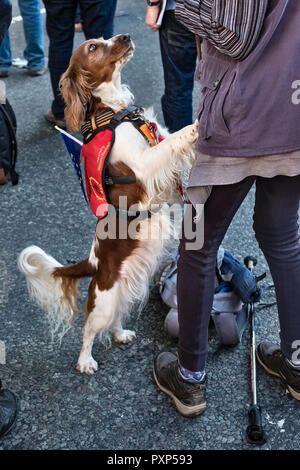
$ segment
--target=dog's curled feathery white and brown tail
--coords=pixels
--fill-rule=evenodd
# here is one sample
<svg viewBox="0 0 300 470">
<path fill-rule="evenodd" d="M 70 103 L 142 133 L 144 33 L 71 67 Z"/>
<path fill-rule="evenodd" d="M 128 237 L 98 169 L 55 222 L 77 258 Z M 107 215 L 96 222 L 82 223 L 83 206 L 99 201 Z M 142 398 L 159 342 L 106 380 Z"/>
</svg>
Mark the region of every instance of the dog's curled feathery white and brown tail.
<svg viewBox="0 0 300 470">
<path fill-rule="evenodd" d="M 79 312 L 79 282 L 92 276 L 95 268 L 88 259 L 62 266 L 37 246 L 29 246 L 21 252 L 18 267 L 26 276 L 31 297 L 47 314 L 52 338 L 56 334 L 61 339 Z"/>
</svg>

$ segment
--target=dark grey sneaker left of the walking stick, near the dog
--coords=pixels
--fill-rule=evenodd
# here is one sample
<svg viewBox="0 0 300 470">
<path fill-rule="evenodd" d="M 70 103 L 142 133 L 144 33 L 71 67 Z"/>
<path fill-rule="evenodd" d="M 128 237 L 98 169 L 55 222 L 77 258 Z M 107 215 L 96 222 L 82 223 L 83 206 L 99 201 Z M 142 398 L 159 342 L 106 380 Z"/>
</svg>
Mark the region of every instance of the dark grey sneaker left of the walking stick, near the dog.
<svg viewBox="0 0 300 470">
<path fill-rule="evenodd" d="M 178 359 L 170 352 L 160 353 L 154 362 L 154 380 L 172 398 L 183 416 L 197 416 L 206 408 L 206 375 L 199 383 L 184 380 L 178 370 Z"/>
</svg>

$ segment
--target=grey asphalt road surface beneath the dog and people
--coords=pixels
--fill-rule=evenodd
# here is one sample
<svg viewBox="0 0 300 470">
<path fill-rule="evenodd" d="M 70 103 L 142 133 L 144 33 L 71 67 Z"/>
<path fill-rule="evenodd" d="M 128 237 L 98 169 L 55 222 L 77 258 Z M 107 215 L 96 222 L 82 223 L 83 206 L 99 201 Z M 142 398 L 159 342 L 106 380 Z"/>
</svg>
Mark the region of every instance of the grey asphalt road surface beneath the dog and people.
<svg viewBox="0 0 300 470">
<path fill-rule="evenodd" d="M 14 0 L 14 16 L 19 14 Z M 153 105 L 160 120 L 163 76 L 157 34 L 144 24 L 145 2 L 119 0 L 116 33 L 130 33 L 136 52 L 123 81 L 136 103 Z M 22 57 L 22 22 L 11 26 L 14 57 Z M 83 41 L 76 34 L 75 43 Z M 48 47 L 45 34 L 46 50 Z M 188 449 L 248 450 L 245 441 L 250 401 L 249 332 L 233 349 L 220 348 L 215 332 L 209 339 L 207 410 L 194 419 L 181 417 L 154 385 L 154 355 L 176 350 L 176 340 L 164 331 L 168 308 L 151 299 L 140 316 L 133 312 L 128 326 L 137 339 L 131 345 L 96 342 L 99 371 L 92 377 L 76 372 L 81 347 L 82 317 L 61 346 L 51 344 L 47 321 L 29 299 L 17 271 L 18 253 L 36 244 L 61 263 L 87 256 L 95 219 L 88 212 L 74 170 L 57 132 L 44 120 L 51 102 L 50 78 L 29 77 L 12 68 L 5 80 L 7 96 L 18 118 L 20 183 L 0 187 L 0 340 L 6 364 L 0 365 L 5 387 L 15 391 L 20 412 L 14 431 L 0 449 Z M 195 111 L 199 88 L 195 89 Z M 267 270 L 252 231 L 254 188 L 245 200 L 224 241 L 240 260 L 254 254 L 258 271 Z M 268 272 L 268 270 L 267 270 Z M 268 273 L 265 284 L 271 284 Z M 84 284 L 83 292 L 86 293 Z M 272 292 L 264 301 L 274 300 Z M 278 341 L 276 307 L 258 314 L 257 340 Z M 258 396 L 268 435 L 263 449 L 300 448 L 300 405 L 279 381 L 258 370 Z"/>
</svg>

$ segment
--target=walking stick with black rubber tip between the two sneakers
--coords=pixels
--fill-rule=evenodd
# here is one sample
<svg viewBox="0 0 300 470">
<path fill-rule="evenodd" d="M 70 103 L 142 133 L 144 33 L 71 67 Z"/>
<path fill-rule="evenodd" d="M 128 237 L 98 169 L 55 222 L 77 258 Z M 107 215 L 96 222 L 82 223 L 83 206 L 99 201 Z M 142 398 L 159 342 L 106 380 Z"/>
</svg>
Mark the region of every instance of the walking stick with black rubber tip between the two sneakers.
<svg viewBox="0 0 300 470">
<path fill-rule="evenodd" d="M 257 264 L 257 260 L 252 256 L 247 256 L 244 259 L 247 268 L 252 271 Z M 262 279 L 262 277 L 260 277 Z M 259 280 L 260 280 L 259 279 Z M 258 283 L 257 288 L 259 289 Z M 248 313 L 250 320 L 251 330 L 251 353 L 250 353 L 250 367 L 251 367 L 251 392 L 252 403 L 248 411 L 249 423 L 246 430 L 247 441 L 249 444 L 261 446 L 266 443 L 266 436 L 262 427 L 261 407 L 257 403 L 257 383 L 256 383 L 256 339 L 255 339 L 255 309 L 254 302 L 248 304 Z"/>
</svg>

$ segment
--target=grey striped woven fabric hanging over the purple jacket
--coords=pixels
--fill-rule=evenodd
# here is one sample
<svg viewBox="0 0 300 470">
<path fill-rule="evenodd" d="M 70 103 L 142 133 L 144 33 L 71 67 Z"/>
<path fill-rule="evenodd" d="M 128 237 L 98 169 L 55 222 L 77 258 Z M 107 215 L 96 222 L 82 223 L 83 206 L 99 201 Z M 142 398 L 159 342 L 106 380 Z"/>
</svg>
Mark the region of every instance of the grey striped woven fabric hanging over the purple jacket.
<svg viewBox="0 0 300 470">
<path fill-rule="evenodd" d="M 245 59 L 256 45 L 269 0 L 177 0 L 176 18 L 221 53 Z"/>
</svg>

